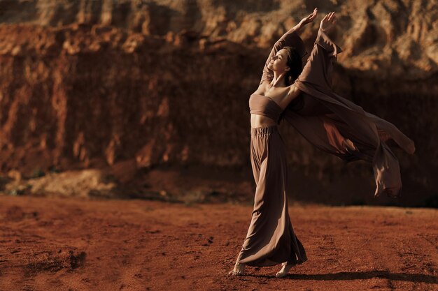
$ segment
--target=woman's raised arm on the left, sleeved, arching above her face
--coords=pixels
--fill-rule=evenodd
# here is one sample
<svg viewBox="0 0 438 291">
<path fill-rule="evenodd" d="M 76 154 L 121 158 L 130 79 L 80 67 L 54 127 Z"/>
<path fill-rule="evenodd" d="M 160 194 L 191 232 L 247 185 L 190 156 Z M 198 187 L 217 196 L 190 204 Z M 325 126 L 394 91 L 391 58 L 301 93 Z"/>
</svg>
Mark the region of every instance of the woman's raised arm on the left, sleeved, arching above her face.
<svg viewBox="0 0 438 291">
<path fill-rule="evenodd" d="M 304 27 L 304 25 L 310 23 L 315 19 L 316 15 L 318 14 L 318 8 L 315 8 L 313 10 L 313 13 L 309 14 L 307 17 L 304 17 L 295 27 L 292 27 L 292 29 L 289 29 L 286 33 L 279 38 L 276 43 L 274 44 L 274 47 L 272 47 L 271 52 L 269 53 L 269 57 L 267 58 L 266 62 L 264 63 L 263 73 L 262 73 L 262 79 L 260 80 L 260 84 L 262 84 L 264 81 L 271 82 L 272 79 L 274 79 L 274 72 L 268 68 L 269 61 L 271 61 L 271 58 L 276 55 L 276 53 L 281 50 L 283 47 L 287 46 L 294 46 L 297 47 L 299 50 L 299 54 L 301 54 L 301 57 L 304 57 L 306 55 L 306 49 L 304 47 L 304 43 L 302 42 L 301 38 L 299 38 L 297 32 Z"/>
</svg>

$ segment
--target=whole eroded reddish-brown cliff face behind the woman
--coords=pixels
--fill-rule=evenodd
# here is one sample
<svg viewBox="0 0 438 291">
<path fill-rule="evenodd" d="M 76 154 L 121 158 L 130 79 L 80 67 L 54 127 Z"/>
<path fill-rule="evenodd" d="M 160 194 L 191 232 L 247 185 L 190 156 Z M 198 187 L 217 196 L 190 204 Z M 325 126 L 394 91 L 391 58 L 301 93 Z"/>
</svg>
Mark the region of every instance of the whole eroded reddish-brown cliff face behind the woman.
<svg viewBox="0 0 438 291">
<path fill-rule="evenodd" d="M 248 167 L 249 94 L 270 46 L 316 5 L 290 2 L 0 1 L 2 172 Z M 320 19 L 337 11 L 331 36 L 344 52 L 334 89 L 416 142 L 415 156 L 395 154 L 404 191 L 416 191 L 409 203 L 423 203 L 438 186 L 437 3 L 318 8 L 302 38 L 310 50 Z M 348 188 L 341 179 L 367 177 L 363 190 L 348 189 L 372 195 L 370 165 L 346 167 L 287 124 L 281 130 L 295 177 L 316 177 L 315 191 L 337 197 Z"/>
</svg>

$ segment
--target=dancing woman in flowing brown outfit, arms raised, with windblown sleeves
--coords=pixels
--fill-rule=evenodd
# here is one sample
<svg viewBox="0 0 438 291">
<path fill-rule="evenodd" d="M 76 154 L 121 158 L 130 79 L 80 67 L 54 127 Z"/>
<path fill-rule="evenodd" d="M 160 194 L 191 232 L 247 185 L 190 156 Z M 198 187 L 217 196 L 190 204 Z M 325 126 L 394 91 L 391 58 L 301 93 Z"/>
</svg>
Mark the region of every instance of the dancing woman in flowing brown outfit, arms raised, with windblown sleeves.
<svg viewBox="0 0 438 291">
<path fill-rule="evenodd" d="M 321 20 L 313 50 L 301 71 L 306 52 L 296 31 L 313 21 L 317 13 L 313 10 L 276 42 L 260 86 L 250 96 L 250 158 L 257 187 L 248 233 L 229 274 L 243 274 L 245 265 L 281 263 L 276 277 L 283 277 L 292 266 L 307 260 L 288 214 L 285 146 L 276 125 L 281 119 L 318 149 L 346 162 L 371 162 L 375 196 L 386 193 L 398 197 L 402 188 L 397 158 L 385 142 L 393 139 L 414 154 L 414 142 L 393 124 L 332 91 L 333 63 L 342 52 L 325 34 L 336 22 L 334 12 Z"/>
</svg>

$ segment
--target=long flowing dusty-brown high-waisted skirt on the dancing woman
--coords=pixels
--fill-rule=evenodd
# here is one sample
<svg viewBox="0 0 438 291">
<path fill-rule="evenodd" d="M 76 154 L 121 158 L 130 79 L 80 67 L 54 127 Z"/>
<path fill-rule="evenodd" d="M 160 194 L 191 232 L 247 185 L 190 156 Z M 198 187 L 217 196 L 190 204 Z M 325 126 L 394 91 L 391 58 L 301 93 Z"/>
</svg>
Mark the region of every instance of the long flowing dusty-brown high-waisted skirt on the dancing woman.
<svg viewBox="0 0 438 291">
<path fill-rule="evenodd" d="M 248 266 L 302 264 L 307 260 L 288 211 L 288 164 L 278 127 L 251 128 L 254 209 L 236 262 Z"/>
</svg>

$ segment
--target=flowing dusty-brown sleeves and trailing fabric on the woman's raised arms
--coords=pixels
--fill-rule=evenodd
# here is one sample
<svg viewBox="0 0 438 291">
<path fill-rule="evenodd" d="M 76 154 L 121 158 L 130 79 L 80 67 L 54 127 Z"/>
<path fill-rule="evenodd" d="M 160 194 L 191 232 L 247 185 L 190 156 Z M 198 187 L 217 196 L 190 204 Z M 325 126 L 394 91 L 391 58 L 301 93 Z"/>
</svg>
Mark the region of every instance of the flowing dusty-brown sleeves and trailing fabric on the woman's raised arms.
<svg viewBox="0 0 438 291">
<path fill-rule="evenodd" d="M 301 38 L 291 29 L 272 48 L 260 84 L 273 79 L 274 74 L 267 65 L 285 46 L 299 48 L 302 57 L 306 54 Z M 372 163 L 376 181 L 374 196 L 386 193 L 389 197 L 400 197 L 400 165 L 386 142 L 393 140 L 409 154 L 415 152 L 414 142 L 394 124 L 332 91 L 333 64 L 340 52 L 341 47 L 319 29 L 303 71 L 292 84 L 302 94 L 286 107 L 280 121 L 285 119 L 313 146 L 347 163 L 358 160 Z"/>
</svg>

